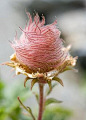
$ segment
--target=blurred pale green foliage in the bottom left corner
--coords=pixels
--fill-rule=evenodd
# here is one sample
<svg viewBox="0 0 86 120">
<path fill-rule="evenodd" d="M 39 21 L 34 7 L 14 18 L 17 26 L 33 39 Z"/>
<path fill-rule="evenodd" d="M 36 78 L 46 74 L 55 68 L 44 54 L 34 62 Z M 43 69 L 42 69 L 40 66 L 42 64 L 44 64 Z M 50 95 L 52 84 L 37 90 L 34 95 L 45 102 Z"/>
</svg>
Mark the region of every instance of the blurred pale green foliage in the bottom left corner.
<svg viewBox="0 0 86 120">
<path fill-rule="evenodd" d="M 26 120 L 21 114 L 17 97 L 20 96 L 21 100 L 25 101 L 31 95 L 30 88 L 24 88 L 22 82 L 18 81 L 6 86 L 0 80 L 0 120 Z"/>
</svg>

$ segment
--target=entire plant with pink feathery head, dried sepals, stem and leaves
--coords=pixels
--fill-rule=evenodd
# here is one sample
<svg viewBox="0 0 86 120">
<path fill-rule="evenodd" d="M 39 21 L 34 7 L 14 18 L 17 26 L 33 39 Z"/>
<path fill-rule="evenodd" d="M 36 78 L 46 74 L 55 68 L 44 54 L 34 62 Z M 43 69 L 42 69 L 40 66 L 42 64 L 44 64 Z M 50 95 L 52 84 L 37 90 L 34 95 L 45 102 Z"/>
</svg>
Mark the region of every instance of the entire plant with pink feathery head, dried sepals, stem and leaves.
<svg viewBox="0 0 86 120">
<path fill-rule="evenodd" d="M 16 35 L 14 42 L 11 42 L 15 53 L 11 55 L 11 61 L 4 64 L 13 67 L 16 75 L 23 74 L 26 76 L 25 87 L 28 80 L 31 80 L 31 89 L 35 83 L 38 83 L 39 95 L 36 97 L 39 101 L 39 112 L 37 120 L 42 120 L 45 106 L 60 102 L 53 98 L 46 99 L 44 97 L 44 85 L 48 84 L 50 91 L 53 88 L 52 81 L 57 81 L 63 86 L 58 75 L 66 70 L 73 69 L 77 57 L 73 58 L 69 54 L 70 45 L 66 48 L 63 46 L 60 31 L 56 26 L 57 20 L 52 24 L 44 25 L 45 17 L 43 15 L 40 21 L 39 15 L 36 13 L 32 21 L 30 13 L 26 13 L 29 17 L 29 23 L 24 30 L 20 28 L 22 30 L 20 39 Z M 31 109 L 24 106 L 19 97 L 18 100 L 30 113 L 32 119 L 36 120 Z"/>
</svg>

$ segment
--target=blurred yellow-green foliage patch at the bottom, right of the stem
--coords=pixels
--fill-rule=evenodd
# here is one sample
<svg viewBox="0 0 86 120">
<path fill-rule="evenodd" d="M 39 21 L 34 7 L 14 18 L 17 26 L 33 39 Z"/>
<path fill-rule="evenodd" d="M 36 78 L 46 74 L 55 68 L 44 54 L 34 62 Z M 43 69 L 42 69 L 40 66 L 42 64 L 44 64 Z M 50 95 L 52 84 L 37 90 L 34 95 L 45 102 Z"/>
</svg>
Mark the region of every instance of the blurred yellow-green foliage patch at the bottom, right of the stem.
<svg viewBox="0 0 86 120">
<path fill-rule="evenodd" d="M 72 115 L 73 113 L 69 109 L 55 106 L 44 112 L 43 120 L 68 120 Z"/>
</svg>

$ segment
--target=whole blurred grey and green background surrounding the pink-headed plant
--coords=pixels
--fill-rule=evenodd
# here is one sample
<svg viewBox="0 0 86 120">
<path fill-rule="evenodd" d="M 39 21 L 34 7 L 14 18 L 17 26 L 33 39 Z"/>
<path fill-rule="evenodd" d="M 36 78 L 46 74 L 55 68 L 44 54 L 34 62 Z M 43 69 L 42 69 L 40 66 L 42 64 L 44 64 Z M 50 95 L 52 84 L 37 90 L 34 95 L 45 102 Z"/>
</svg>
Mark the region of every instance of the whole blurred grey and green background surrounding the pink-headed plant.
<svg viewBox="0 0 86 120">
<path fill-rule="evenodd" d="M 24 28 L 28 18 L 25 9 L 32 15 L 34 10 L 44 14 L 46 24 L 57 18 L 64 45 L 72 45 L 70 53 L 78 56 L 76 69 L 60 75 L 64 87 L 59 84 L 49 97 L 63 101 L 50 105 L 44 112 L 43 120 L 86 120 L 86 0 L 3 0 L 0 1 L 0 64 L 9 61 L 13 49 L 15 31 L 21 35 L 19 27 Z M 13 77 L 11 68 L 0 66 L 0 120 L 31 120 L 17 100 L 20 96 L 26 106 L 30 106 L 37 116 L 38 105 L 33 94 L 38 92 L 35 85 L 30 90 L 30 82 L 24 88 L 25 76 Z M 47 87 L 47 86 L 46 86 Z"/>
</svg>

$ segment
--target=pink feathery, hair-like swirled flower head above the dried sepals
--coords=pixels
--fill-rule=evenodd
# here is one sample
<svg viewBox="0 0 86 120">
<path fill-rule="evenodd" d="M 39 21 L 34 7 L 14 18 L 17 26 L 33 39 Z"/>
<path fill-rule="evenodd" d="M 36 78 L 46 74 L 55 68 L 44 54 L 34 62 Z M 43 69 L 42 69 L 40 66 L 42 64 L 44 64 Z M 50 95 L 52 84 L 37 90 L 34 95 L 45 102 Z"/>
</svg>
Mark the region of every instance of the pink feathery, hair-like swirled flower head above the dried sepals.
<svg viewBox="0 0 86 120">
<path fill-rule="evenodd" d="M 14 40 L 12 47 L 19 63 L 26 65 L 32 72 L 48 72 L 59 69 L 67 60 L 69 53 L 62 45 L 60 31 L 57 29 L 57 21 L 45 24 L 45 17 L 40 21 L 36 13 L 34 21 L 30 13 L 29 24 L 22 30 L 20 39 Z"/>
</svg>

